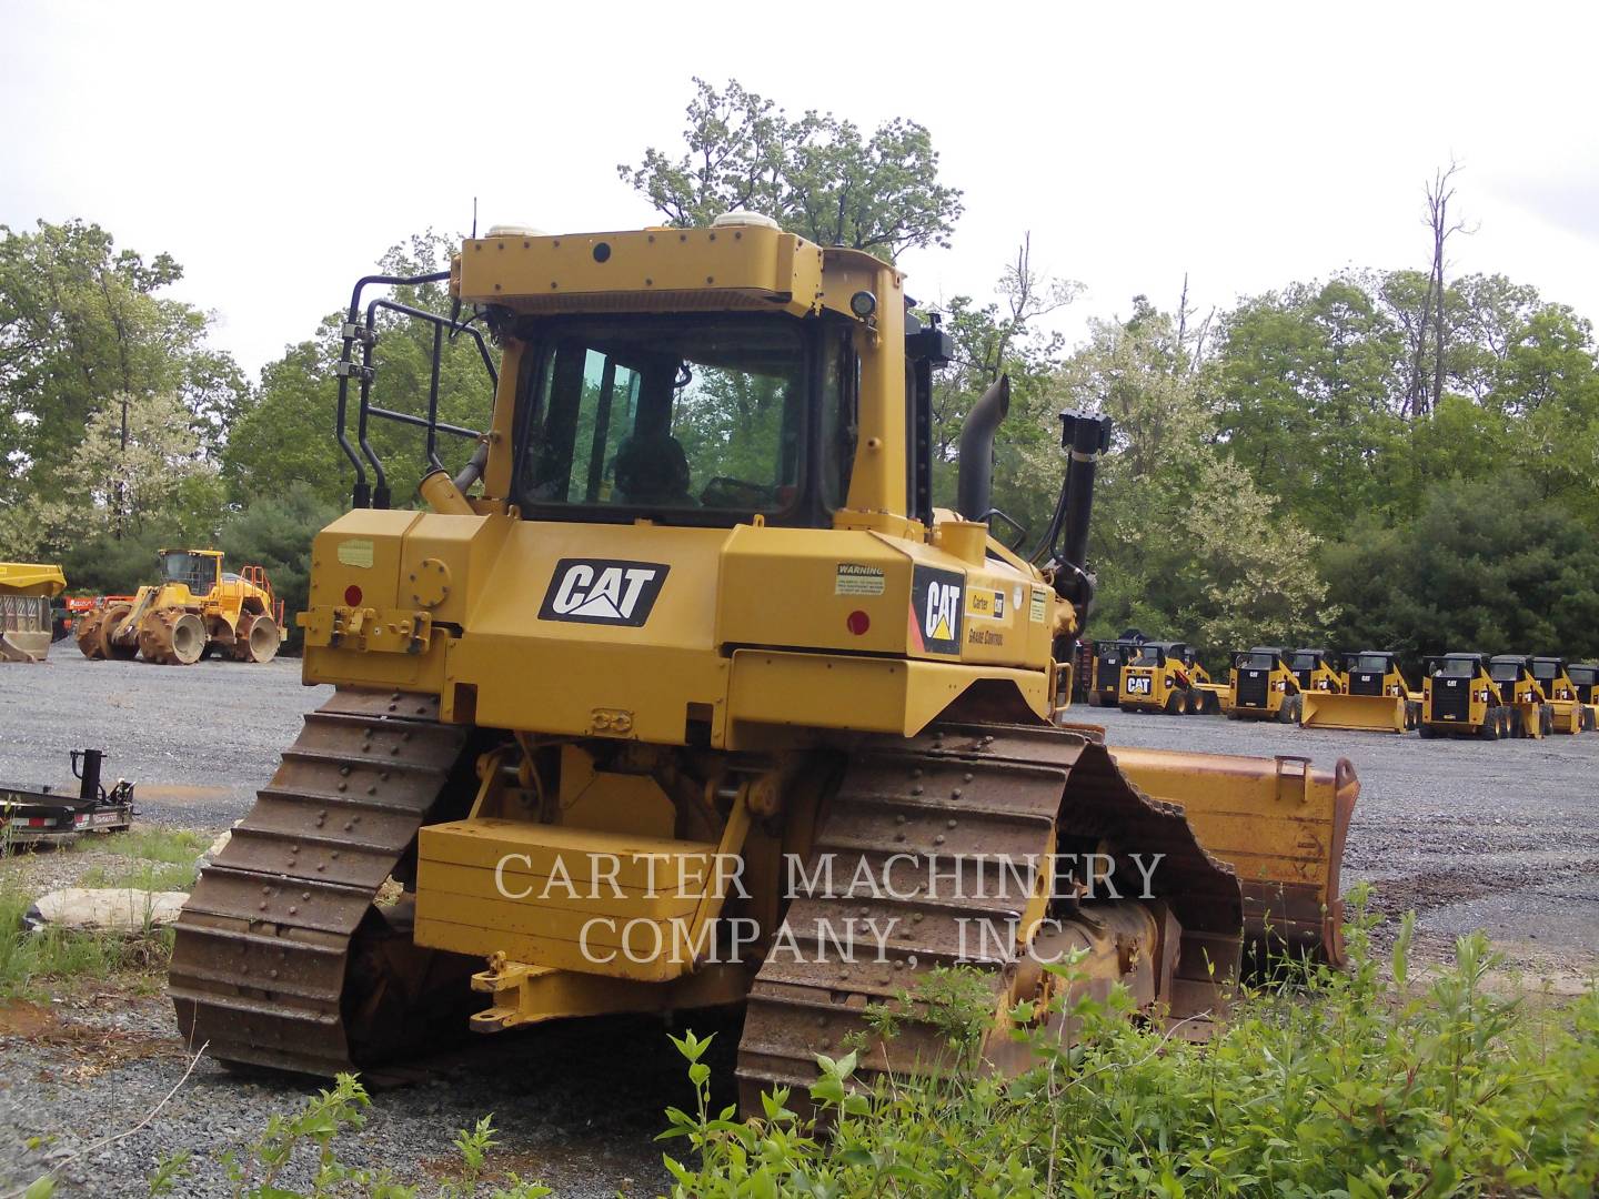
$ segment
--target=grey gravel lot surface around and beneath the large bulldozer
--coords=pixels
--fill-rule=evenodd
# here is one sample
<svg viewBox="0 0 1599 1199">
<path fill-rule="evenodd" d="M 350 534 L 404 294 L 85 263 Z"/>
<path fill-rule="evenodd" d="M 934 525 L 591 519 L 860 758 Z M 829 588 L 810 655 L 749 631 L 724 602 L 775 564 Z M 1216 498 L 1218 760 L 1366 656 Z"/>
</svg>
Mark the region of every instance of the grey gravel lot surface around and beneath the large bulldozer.
<svg viewBox="0 0 1599 1199">
<path fill-rule="evenodd" d="M 221 830 L 243 815 L 301 713 L 328 692 L 302 687 L 293 660 L 174 670 L 86 662 L 70 644 L 56 651 L 43 667 L 0 667 L 0 779 L 67 785 L 67 750 L 99 747 L 110 777 L 136 780 L 144 820 L 166 827 Z M 1457 934 L 1485 927 L 1513 966 L 1559 990 L 1599 972 L 1599 735 L 1422 742 L 1222 718 L 1076 715 L 1105 724 L 1113 745 L 1308 755 L 1329 767 L 1346 756 L 1362 795 L 1345 884 L 1370 879 L 1385 911 L 1415 908 L 1423 954 L 1442 956 Z M 731 1079 L 736 1020 L 696 1014 L 692 1026 L 721 1030 L 713 1065 Z M 649 1020 L 488 1038 L 433 1060 L 409 1085 L 377 1092 L 344 1156 L 427 1178 L 449 1162 L 456 1129 L 494 1113 L 500 1169 L 560 1194 L 652 1194 L 665 1185 L 652 1141 L 660 1109 L 691 1100 L 680 1065 Z M 136 1125 L 187 1066 L 161 999 L 90 993 L 46 1009 L 0 1006 L 0 1196 L 58 1162 L 62 1194 L 144 1194 L 144 1173 L 176 1148 L 190 1149 L 201 1170 L 184 1194 L 227 1194 L 214 1154 L 313 1092 L 201 1060 L 149 1129 L 72 1159 Z M 46 1140 L 29 1148 L 34 1137 Z"/>
</svg>

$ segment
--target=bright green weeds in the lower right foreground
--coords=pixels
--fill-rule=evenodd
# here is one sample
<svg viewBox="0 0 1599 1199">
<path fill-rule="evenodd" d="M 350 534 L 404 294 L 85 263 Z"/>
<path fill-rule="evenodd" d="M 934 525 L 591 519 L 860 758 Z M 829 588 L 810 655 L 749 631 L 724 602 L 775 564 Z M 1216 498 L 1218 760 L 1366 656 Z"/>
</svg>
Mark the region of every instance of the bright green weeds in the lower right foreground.
<svg viewBox="0 0 1599 1199">
<path fill-rule="evenodd" d="M 1124 990 L 1095 998 L 1067 961 L 1046 967 L 1063 983 L 1049 1010 L 1014 1014 L 1036 1062 L 1020 1078 L 971 1063 L 851 1079 L 855 1054 L 823 1057 L 815 1124 L 784 1090 L 761 1117 L 713 1117 L 704 1042 L 675 1039 L 700 1097 L 697 1113 L 667 1114 L 664 1135 L 699 1157 L 667 1159 L 675 1194 L 1594 1194 L 1599 991 L 1554 1010 L 1495 996 L 1481 934 L 1423 986 L 1409 969 L 1414 921 L 1383 970 L 1361 897 L 1354 911 L 1346 972 L 1282 964 L 1206 1046 L 1129 1018 Z M 958 980 L 895 1007 L 883 1031 L 918 1018 L 961 1047 L 971 1006 Z"/>
</svg>

